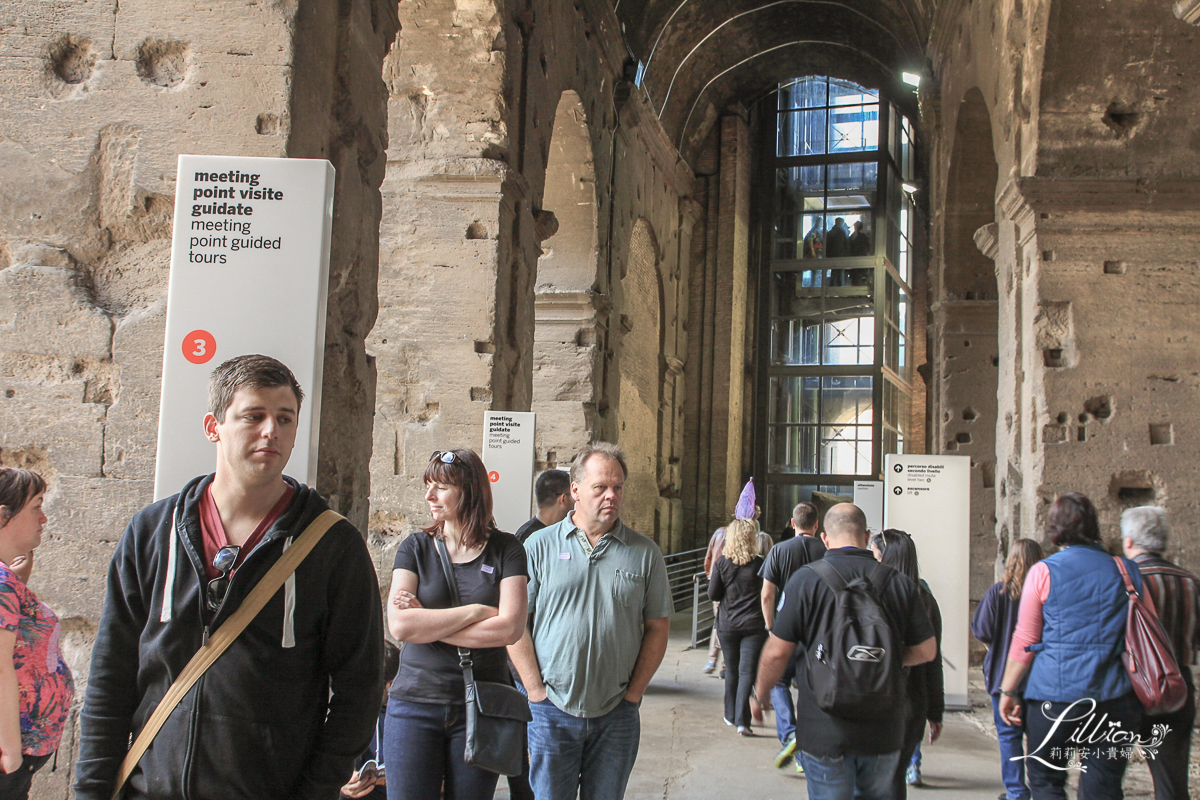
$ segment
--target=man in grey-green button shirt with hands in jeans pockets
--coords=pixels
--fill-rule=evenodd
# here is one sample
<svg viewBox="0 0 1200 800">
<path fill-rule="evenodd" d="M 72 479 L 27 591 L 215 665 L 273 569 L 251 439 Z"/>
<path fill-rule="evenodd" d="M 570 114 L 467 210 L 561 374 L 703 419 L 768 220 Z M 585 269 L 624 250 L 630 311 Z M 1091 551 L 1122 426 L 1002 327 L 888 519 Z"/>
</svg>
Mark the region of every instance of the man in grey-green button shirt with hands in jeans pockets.
<svg viewBox="0 0 1200 800">
<path fill-rule="evenodd" d="M 586 447 L 575 510 L 535 533 L 530 624 L 509 655 L 529 692 L 529 783 L 538 800 L 619 800 L 637 758 L 638 704 L 667 648 L 671 591 L 658 546 L 620 519 L 625 458 Z"/>
</svg>

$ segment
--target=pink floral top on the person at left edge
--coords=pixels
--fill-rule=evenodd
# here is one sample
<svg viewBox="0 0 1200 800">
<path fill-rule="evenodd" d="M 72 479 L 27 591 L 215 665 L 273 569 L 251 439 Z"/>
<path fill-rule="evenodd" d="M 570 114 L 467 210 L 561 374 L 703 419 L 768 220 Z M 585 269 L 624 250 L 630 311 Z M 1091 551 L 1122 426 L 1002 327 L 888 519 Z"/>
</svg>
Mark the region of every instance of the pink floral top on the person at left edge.
<svg viewBox="0 0 1200 800">
<path fill-rule="evenodd" d="M 59 651 L 59 618 L 0 561 L 0 627 L 17 634 L 12 661 L 20 686 L 20 752 L 48 756 L 59 747 L 74 697 Z"/>
</svg>

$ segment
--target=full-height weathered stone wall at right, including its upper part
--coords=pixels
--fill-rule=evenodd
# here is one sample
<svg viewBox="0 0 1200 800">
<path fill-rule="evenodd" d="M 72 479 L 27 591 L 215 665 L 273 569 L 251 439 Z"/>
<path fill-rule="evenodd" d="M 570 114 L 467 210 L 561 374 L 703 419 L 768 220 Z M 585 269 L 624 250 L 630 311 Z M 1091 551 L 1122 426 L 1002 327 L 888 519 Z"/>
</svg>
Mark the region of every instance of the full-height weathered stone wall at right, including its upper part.
<svg viewBox="0 0 1200 800">
<path fill-rule="evenodd" d="M 988 457 L 976 452 L 986 446 L 978 420 L 955 416 L 966 407 L 986 414 L 992 402 L 982 354 L 967 356 L 972 391 L 959 379 L 965 350 L 954 348 L 967 327 L 972 347 L 988 336 L 991 312 L 978 299 L 990 302 L 992 284 L 960 247 L 978 222 L 973 239 L 995 264 L 997 290 L 996 570 L 1013 539 L 1043 540 L 1045 512 L 1067 491 L 1092 498 L 1110 545 L 1123 509 L 1165 505 L 1176 528 L 1170 555 L 1200 565 L 1189 534 L 1200 522 L 1195 459 L 1178 422 L 1189 415 L 1184 386 L 1200 359 L 1188 335 L 1200 160 L 1186 90 L 1198 47 L 1193 26 L 1152 2 L 938 10 L 937 83 L 923 106 L 934 136 L 934 299 L 942 302 L 932 368 L 943 428 L 932 444 L 958 443 L 962 452 L 958 435 L 970 433 L 977 468 Z M 977 199 L 954 198 L 956 160 L 989 155 L 978 133 L 964 146 L 967 132 L 955 131 L 964 109 L 980 106 L 997 167 L 994 223 L 972 216 Z M 978 599 L 988 559 L 973 552 L 972 561 Z"/>
</svg>

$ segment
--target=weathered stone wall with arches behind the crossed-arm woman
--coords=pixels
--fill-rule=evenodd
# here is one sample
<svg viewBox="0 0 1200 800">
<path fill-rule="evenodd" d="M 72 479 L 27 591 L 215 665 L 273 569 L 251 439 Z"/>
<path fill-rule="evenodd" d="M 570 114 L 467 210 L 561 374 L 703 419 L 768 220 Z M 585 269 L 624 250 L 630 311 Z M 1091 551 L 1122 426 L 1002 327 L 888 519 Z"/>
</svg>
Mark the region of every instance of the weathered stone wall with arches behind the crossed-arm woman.
<svg viewBox="0 0 1200 800">
<path fill-rule="evenodd" d="M 660 249 L 661 360 L 682 363 L 679 200 L 690 190 L 658 121 L 622 83 L 604 4 L 433 1 L 403 4 L 401 17 L 385 71 L 391 139 L 370 344 L 380 566 L 398 536 L 425 524 L 428 453 L 478 449 L 484 410 L 548 417 L 539 467 L 565 465 L 590 439 L 620 440 L 620 319 L 630 317 L 622 283 L 634 227 L 644 219 Z M 556 144 L 556 131 L 570 143 Z M 565 209 L 572 194 L 594 210 Z M 658 439 L 624 443 L 653 465 L 636 503 L 649 512 L 635 515 L 655 536 L 682 524 L 680 515 L 654 513 L 656 498 L 680 491 L 682 398 L 666 396 L 661 453 Z"/>
</svg>

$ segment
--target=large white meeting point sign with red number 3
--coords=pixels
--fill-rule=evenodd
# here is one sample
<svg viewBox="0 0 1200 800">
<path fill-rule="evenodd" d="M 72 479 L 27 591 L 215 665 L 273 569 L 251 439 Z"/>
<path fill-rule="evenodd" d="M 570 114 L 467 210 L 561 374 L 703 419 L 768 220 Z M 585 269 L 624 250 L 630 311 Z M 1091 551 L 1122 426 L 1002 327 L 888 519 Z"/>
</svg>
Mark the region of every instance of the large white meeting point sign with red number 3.
<svg viewBox="0 0 1200 800">
<path fill-rule="evenodd" d="M 212 471 L 209 375 L 253 353 L 286 363 L 304 389 L 284 471 L 316 479 L 332 224 L 328 161 L 179 157 L 155 499 Z"/>
</svg>

